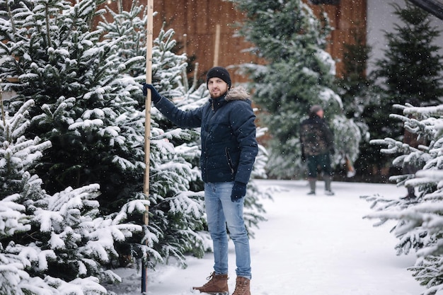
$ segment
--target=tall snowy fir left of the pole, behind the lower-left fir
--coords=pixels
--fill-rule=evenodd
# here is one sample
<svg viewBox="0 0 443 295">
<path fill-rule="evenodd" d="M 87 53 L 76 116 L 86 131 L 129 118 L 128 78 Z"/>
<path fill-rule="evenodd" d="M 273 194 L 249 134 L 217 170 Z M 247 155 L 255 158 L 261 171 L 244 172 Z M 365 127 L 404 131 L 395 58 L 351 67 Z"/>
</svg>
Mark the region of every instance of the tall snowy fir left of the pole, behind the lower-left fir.
<svg viewBox="0 0 443 295">
<path fill-rule="evenodd" d="M 132 64 L 118 59 L 120 40 L 100 41 L 91 29 L 101 1 L 32 1 L 2 18 L 1 76 L 17 77 L 14 110 L 33 98 L 28 134 L 50 140 L 35 168 L 47 192 L 99 183 L 100 209 L 117 212 L 130 198 L 142 198 L 144 115 L 137 111 L 139 83 L 124 76 Z M 11 7 L 11 1 L 2 1 Z"/>
</svg>

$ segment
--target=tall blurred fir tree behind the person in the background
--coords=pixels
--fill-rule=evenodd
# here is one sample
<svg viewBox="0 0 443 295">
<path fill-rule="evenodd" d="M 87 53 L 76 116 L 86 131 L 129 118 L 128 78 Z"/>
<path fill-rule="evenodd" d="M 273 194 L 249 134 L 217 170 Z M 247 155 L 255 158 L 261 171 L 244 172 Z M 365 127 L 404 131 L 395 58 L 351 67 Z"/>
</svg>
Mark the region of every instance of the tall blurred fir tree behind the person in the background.
<svg viewBox="0 0 443 295">
<path fill-rule="evenodd" d="M 301 0 L 231 1 L 246 16 L 238 35 L 265 60 L 264 65 L 242 64 L 240 70 L 251 80 L 261 122 L 270 132 L 270 174 L 301 176 L 299 125 L 314 104 L 323 105 L 335 132 L 335 163 L 345 154 L 355 159 L 361 135 L 333 91 L 335 62 L 324 50 L 331 30 L 327 16 L 317 18 Z"/>
</svg>

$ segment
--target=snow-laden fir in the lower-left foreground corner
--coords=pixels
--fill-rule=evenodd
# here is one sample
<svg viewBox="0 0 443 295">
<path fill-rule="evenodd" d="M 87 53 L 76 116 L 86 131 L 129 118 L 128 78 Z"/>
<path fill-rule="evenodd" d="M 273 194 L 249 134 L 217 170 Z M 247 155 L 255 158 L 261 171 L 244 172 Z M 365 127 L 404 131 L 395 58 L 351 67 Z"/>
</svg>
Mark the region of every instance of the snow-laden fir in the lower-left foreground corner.
<svg viewBox="0 0 443 295">
<path fill-rule="evenodd" d="M 147 201 L 103 217 L 98 185 L 48 195 L 30 172 L 51 146 L 25 137 L 34 101 L 13 116 L 0 104 L 0 294 L 107 294 L 100 282 L 121 282 L 109 270 L 118 257 L 114 245 L 142 231 L 125 221 Z"/>
</svg>

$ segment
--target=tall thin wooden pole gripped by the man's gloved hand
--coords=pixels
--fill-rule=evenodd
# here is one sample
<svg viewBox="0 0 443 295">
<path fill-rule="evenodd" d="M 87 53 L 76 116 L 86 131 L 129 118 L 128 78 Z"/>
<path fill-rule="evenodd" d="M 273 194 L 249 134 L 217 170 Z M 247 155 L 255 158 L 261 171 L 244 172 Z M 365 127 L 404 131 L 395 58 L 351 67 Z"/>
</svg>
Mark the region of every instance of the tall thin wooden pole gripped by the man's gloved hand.
<svg viewBox="0 0 443 295">
<path fill-rule="evenodd" d="M 146 24 L 146 83 L 152 83 L 152 35 L 154 31 L 154 0 L 147 0 L 147 24 Z M 148 89 L 148 95 L 145 100 L 145 119 L 144 119 L 144 182 L 143 192 L 149 197 L 149 156 L 151 149 L 151 96 Z M 146 211 L 143 216 L 143 223 L 147 226 L 149 223 L 149 207 L 146 205 Z M 147 262 L 142 265 L 142 293 L 147 290 L 148 281 Z"/>
</svg>

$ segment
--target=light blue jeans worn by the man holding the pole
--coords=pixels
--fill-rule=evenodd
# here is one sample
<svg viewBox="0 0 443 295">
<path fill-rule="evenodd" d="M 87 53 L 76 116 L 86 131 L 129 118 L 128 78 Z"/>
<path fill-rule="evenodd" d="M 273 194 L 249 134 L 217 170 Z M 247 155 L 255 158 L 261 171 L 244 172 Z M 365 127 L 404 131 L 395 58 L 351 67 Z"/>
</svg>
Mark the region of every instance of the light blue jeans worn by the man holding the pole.
<svg viewBox="0 0 443 295">
<path fill-rule="evenodd" d="M 214 271 L 228 273 L 228 235 L 234 241 L 236 251 L 236 274 L 251 279 L 251 252 L 249 238 L 243 221 L 244 197 L 231 201 L 234 183 L 205 183 L 207 224 L 214 245 Z"/>
</svg>

